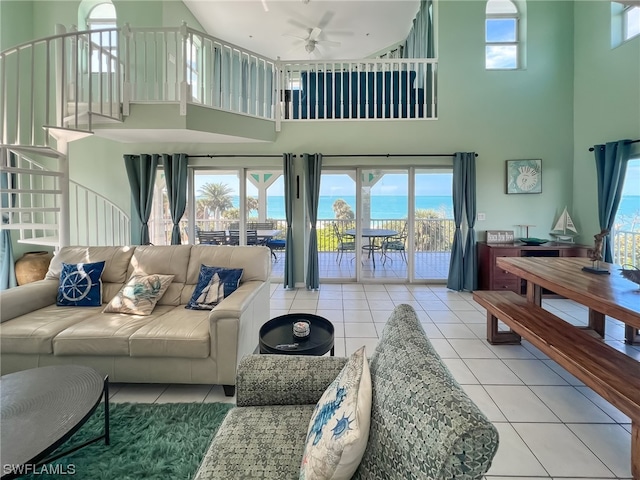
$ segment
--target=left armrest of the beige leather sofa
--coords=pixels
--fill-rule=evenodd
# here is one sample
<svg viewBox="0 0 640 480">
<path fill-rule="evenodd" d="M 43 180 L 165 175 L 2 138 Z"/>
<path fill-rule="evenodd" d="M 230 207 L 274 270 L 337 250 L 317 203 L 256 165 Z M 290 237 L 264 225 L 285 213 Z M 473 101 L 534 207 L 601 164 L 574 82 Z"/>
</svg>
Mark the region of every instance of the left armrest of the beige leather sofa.
<svg viewBox="0 0 640 480">
<path fill-rule="evenodd" d="M 0 291 L 0 323 L 56 303 L 58 280 L 38 280 Z"/>
</svg>

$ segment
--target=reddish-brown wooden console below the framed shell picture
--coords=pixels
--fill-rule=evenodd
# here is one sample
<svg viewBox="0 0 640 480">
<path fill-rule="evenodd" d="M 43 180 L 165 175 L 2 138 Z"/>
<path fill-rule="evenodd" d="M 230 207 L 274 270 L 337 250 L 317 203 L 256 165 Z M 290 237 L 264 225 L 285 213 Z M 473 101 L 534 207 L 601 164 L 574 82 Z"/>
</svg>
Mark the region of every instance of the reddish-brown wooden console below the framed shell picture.
<svg viewBox="0 0 640 480">
<path fill-rule="evenodd" d="M 478 242 L 478 288 L 480 290 L 511 290 L 524 293 L 520 278 L 497 265 L 500 257 L 586 257 L 587 245 L 547 242 L 531 246 L 524 243 L 491 244 Z"/>
</svg>

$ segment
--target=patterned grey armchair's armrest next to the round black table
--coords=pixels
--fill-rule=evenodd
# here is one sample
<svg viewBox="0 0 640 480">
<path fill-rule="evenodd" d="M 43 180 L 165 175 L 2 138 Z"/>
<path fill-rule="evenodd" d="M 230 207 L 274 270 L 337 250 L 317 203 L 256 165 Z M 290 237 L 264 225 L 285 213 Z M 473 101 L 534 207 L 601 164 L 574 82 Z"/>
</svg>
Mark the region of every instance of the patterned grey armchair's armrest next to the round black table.
<svg viewBox="0 0 640 480">
<path fill-rule="evenodd" d="M 236 403 L 315 404 L 347 359 L 306 355 L 247 355 L 238 365 Z"/>
</svg>

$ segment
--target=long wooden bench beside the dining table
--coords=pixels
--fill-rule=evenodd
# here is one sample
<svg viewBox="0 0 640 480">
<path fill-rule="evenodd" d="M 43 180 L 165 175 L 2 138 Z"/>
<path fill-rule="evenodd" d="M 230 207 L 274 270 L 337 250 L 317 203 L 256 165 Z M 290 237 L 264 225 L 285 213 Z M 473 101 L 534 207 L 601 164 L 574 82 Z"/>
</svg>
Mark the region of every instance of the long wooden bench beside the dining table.
<svg viewBox="0 0 640 480">
<path fill-rule="evenodd" d="M 514 292 L 476 291 L 490 343 L 531 342 L 631 418 L 631 474 L 640 480 L 640 363 Z M 498 320 L 512 331 L 498 331 Z"/>
</svg>

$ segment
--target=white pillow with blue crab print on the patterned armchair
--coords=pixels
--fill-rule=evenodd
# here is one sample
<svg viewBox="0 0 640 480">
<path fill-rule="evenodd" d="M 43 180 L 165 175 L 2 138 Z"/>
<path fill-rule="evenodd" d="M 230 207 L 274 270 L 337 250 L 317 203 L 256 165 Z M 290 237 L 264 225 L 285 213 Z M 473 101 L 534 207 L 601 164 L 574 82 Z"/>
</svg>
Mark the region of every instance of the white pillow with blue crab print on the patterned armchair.
<svg viewBox="0 0 640 480">
<path fill-rule="evenodd" d="M 369 438 L 371 374 L 364 347 L 327 387 L 309 422 L 300 480 L 348 480 Z"/>
</svg>

